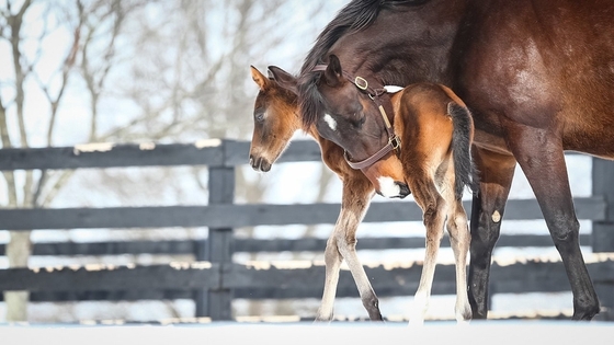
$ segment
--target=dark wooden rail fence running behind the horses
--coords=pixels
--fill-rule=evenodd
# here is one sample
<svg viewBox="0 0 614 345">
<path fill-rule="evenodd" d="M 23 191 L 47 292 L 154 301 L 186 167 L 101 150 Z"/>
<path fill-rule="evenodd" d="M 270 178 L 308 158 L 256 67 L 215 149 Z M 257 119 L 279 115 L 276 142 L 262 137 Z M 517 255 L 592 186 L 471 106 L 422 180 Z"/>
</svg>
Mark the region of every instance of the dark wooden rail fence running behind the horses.
<svg viewBox="0 0 614 345">
<path fill-rule="evenodd" d="M 248 142 L 207 140 L 196 145 L 113 145 L 70 148 L 2 149 L 0 170 L 48 170 L 111 166 L 206 165 L 208 205 L 166 207 L 0 209 L 0 229 L 81 229 L 208 227 L 196 241 L 135 241 L 112 243 L 35 243 L 34 255 L 193 254 L 195 263 L 167 265 L 98 265 L 56 268 L 0 269 L 0 290 L 29 290 L 33 301 L 145 300 L 191 298 L 196 317 L 231 320 L 234 298 L 318 298 L 323 266 L 250 266 L 232 262 L 236 252 L 323 251 L 326 240 L 235 239 L 232 229 L 251 226 L 334 223 L 339 205 L 235 205 L 235 168 L 247 163 Z M 297 141 L 281 162 L 319 161 L 315 142 Z M 575 198 L 580 219 L 592 221 L 581 243 L 593 252 L 614 252 L 614 163 L 593 159 L 593 195 Z M 470 211 L 470 203 L 466 203 Z M 543 218 L 534 199 L 511 199 L 507 220 Z M 421 220 L 413 203 L 373 203 L 365 222 Z M 423 239 L 361 239 L 359 250 L 422 248 Z M 443 245 L 450 245 L 444 239 Z M 544 235 L 502 235 L 499 246 L 552 246 Z M 0 245 L 0 254 L 3 254 Z M 614 307 L 614 262 L 589 263 L 605 315 Z M 412 296 L 419 264 L 368 267 L 378 296 Z M 454 294 L 454 266 L 439 265 L 433 294 Z M 493 264 L 492 292 L 568 291 L 559 262 Z M 338 296 L 357 296 L 349 273 L 342 272 Z"/>
</svg>

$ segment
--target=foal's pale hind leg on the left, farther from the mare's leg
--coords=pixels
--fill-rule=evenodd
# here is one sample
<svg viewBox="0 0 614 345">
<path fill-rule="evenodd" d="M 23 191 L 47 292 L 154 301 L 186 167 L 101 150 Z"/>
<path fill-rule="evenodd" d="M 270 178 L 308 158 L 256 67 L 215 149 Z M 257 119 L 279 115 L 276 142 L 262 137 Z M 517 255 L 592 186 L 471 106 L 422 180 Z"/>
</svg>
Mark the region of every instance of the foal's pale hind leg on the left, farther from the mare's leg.
<svg viewBox="0 0 614 345">
<path fill-rule="evenodd" d="M 416 170 L 411 171 L 411 176 L 419 175 L 428 176 L 425 172 L 419 173 Z M 410 324 L 419 325 L 424 322 L 424 314 L 429 308 L 437 253 L 443 238 L 446 207 L 448 205 L 446 205 L 444 198 L 437 193 L 434 182 L 431 179 L 414 180 L 408 177 L 407 180 L 416 203 L 422 208 L 424 227 L 427 228 L 424 264 L 422 266 L 420 284 L 413 297 L 413 308 L 409 320 Z"/>
</svg>

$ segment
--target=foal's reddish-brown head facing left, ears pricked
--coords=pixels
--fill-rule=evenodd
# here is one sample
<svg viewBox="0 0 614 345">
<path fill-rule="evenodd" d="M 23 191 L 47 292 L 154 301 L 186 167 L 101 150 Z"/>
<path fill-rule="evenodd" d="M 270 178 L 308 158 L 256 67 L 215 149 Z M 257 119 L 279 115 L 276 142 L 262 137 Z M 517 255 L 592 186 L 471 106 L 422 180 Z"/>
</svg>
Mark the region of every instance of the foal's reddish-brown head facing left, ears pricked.
<svg viewBox="0 0 614 345">
<path fill-rule="evenodd" d="M 253 110 L 250 164 L 254 170 L 265 172 L 271 170 L 302 126 L 296 91 L 292 91 L 296 79 L 274 66 L 269 67 L 270 78 L 253 66 L 250 68 L 251 77 L 260 88 Z M 273 79 L 273 73 L 276 79 Z"/>
</svg>

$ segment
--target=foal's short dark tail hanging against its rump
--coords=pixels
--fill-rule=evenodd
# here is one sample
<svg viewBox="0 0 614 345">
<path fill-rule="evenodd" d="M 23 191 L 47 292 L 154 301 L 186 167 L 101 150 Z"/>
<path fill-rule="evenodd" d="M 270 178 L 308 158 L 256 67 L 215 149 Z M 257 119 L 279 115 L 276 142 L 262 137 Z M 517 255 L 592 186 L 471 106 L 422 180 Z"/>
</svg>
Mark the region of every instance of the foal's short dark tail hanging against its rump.
<svg viewBox="0 0 614 345">
<path fill-rule="evenodd" d="M 468 186 L 473 193 L 477 193 L 479 186 L 476 165 L 471 158 L 474 120 L 469 110 L 456 102 L 447 104 L 447 113 L 452 116 L 452 124 L 454 126 L 454 131 L 452 133 L 452 154 L 454 159 L 454 174 L 456 175 L 454 194 L 456 199 L 461 199 L 465 186 Z"/>
</svg>

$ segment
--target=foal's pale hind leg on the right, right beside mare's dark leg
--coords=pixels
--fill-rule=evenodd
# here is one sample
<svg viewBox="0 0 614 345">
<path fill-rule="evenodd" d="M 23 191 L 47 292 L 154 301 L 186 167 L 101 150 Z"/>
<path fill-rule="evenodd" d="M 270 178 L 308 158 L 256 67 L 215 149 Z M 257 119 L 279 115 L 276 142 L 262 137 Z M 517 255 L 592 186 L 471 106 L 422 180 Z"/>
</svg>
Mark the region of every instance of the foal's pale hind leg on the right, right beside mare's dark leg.
<svg viewBox="0 0 614 345">
<path fill-rule="evenodd" d="M 452 197 L 454 198 L 454 195 Z M 467 254 L 471 235 L 469 234 L 467 214 L 463 208 L 463 202 L 453 202 L 450 210 L 446 227 L 456 265 L 456 304 L 454 313 L 456 314 L 456 321 L 467 321 L 471 319 L 471 307 L 467 296 Z"/>
</svg>

